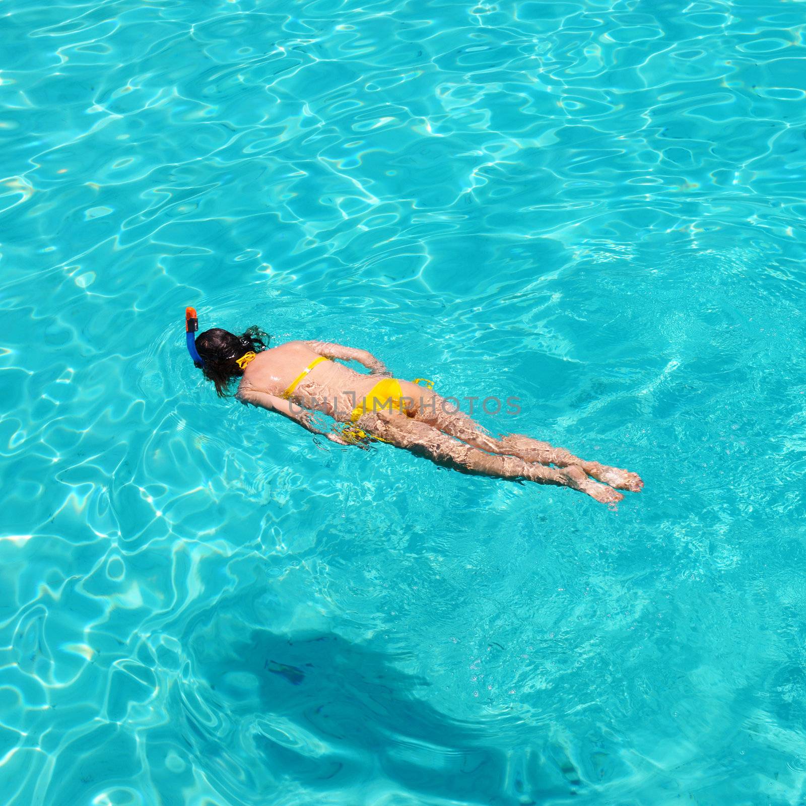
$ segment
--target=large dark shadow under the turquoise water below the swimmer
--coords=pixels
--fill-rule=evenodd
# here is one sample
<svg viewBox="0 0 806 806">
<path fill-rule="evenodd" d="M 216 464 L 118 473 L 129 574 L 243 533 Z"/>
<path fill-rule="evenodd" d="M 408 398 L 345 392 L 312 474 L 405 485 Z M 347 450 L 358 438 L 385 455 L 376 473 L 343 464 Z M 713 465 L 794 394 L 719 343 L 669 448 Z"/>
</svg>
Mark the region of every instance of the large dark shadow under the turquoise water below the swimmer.
<svg viewBox="0 0 806 806">
<path fill-rule="evenodd" d="M 224 646 L 207 633 L 192 642 L 195 693 L 208 715 L 223 712 L 231 721 L 231 728 L 213 730 L 228 737 L 228 760 L 216 766 L 219 773 L 230 769 L 221 783 L 237 787 L 242 798 L 242 787 L 265 797 L 291 786 L 297 802 L 303 793 L 325 798 L 352 790 L 349 802 L 394 792 L 418 793 L 418 802 L 526 806 L 567 802 L 575 788 L 558 779 L 555 764 L 544 766 L 537 748 L 528 771 L 520 752 L 513 758 L 514 717 L 473 723 L 449 717 L 418 699 L 426 681 L 394 667 L 388 655 L 332 633 L 251 629 Z M 185 710 L 196 741 L 207 737 L 207 750 L 197 756 L 203 763 L 211 758 L 210 722 L 200 725 L 197 708 Z"/>
</svg>

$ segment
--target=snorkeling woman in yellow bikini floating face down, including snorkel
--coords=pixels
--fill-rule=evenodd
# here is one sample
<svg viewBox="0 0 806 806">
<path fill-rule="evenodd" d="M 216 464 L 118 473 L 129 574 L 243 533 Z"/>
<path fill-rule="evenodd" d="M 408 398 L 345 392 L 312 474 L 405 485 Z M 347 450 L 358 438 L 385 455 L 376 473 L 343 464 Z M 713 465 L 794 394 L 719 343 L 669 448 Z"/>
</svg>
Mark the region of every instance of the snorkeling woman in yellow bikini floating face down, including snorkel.
<svg viewBox="0 0 806 806">
<path fill-rule="evenodd" d="M 492 438 L 430 389 L 392 378 L 366 350 L 315 341 L 267 349 L 268 337 L 254 327 L 241 336 L 213 328 L 194 340 L 197 319 L 192 308 L 186 325 L 190 354 L 220 397 L 240 378 L 235 393 L 239 401 L 280 413 L 339 445 L 364 447 L 378 439 L 459 472 L 557 484 L 605 504 L 621 501 L 624 496 L 618 490 L 639 492 L 643 487 L 635 473 L 585 461 L 547 442 L 521 434 Z M 358 361 L 370 372 L 355 372 L 334 359 Z M 346 427 L 323 431 L 313 422 L 314 411 Z"/>
</svg>

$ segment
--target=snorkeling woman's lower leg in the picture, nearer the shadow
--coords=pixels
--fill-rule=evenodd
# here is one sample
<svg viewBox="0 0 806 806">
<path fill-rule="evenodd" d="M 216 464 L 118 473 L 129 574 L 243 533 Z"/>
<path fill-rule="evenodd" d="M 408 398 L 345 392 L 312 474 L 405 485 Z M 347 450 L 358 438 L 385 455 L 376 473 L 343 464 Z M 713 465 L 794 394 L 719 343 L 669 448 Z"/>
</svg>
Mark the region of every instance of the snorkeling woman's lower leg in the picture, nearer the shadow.
<svg viewBox="0 0 806 806">
<path fill-rule="evenodd" d="M 542 464 L 524 462 L 516 456 L 485 453 L 443 434 L 426 422 L 406 417 L 405 414 L 388 411 L 368 413 L 359 420 L 358 425 L 370 434 L 391 442 L 395 447 L 405 448 L 415 455 L 425 456 L 434 463 L 452 467 L 459 472 L 570 487 L 603 504 L 612 504 L 624 497 L 620 492 L 592 481 L 579 467 L 543 467 Z"/>
</svg>

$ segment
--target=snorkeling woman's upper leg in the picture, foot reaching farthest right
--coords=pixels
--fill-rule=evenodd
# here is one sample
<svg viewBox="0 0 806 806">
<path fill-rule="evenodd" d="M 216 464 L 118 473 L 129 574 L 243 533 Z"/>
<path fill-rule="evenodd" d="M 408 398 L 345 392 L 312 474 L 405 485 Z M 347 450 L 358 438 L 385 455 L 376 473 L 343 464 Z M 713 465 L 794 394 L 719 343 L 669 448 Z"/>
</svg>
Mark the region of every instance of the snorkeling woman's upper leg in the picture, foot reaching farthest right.
<svg viewBox="0 0 806 806">
<path fill-rule="evenodd" d="M 416 401 L 414 417 L 418 421 L 438 428 L 443 434 L 461 439 L 482 451 L 517 456 L 525 462 L 554 464 L 557 467 L 581 467 L 588 476 L 620 490 L 638 492 L 644 485 L 637 473 L 598 462 L 588 462 L 565 448 L 555 448 L 548 442 L 540 442 L 523 434 L 509 434 L 502 436 L 501 439 L 493 438 L 467 414 L 459 410 L 454 411 L 455 407 L 450 401 L 415 384 L 406 383 L 404 393 Z"/>
</svg>

